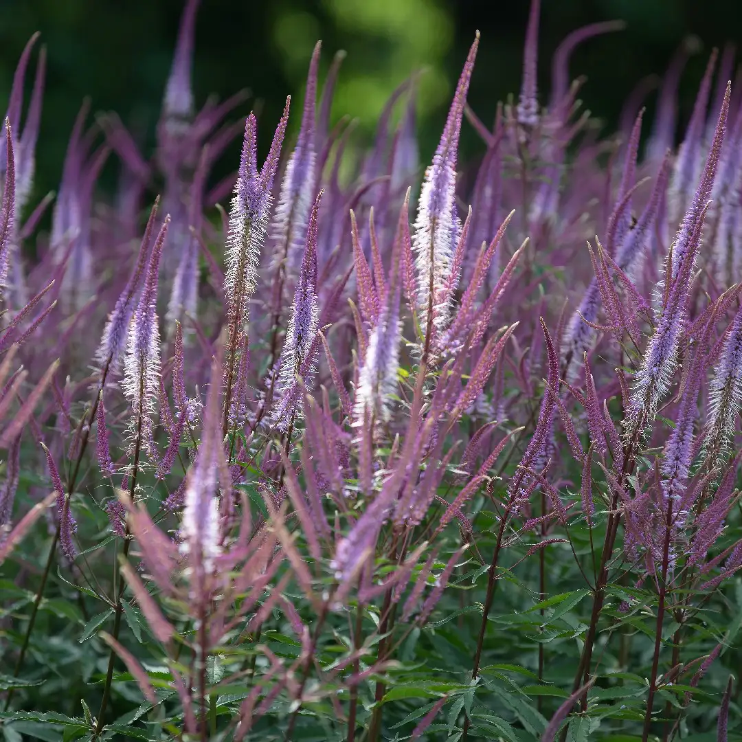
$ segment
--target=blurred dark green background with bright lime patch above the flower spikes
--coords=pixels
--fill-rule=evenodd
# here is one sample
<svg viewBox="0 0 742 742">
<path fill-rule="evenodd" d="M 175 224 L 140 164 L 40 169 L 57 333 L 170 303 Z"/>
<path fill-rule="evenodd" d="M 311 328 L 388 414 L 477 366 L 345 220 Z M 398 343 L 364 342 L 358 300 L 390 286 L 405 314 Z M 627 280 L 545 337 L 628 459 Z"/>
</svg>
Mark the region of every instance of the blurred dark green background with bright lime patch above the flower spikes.
<svg viewBox="0 0 742 742">
<path fill-rule="evenodd" d="M 117 111 L 151 151 L 182 7 L 181 0 L 0 0 L 0 108 L 7 105 L 13 70 L 31 33 L 41 31 L 49 55 L 37 195 L 56 188 L 73 117 L 86 95 L 93 111 Z M 477 28 L 482 44 L 471 105 L 491 122 L 496 102 L 518 91 L 527 16 L 528 0 L 202 0 L 194 69 L 197 105 L 209 93 L 223 98 L 249 88 L 252 98 L 239 113 L 261 108 L 261 144 L 267 147 L 286 93 L 299 93 L 297 102 L 302 98 L 309 54 L 321 38 L 324 70 L 336 50 L 347 50 L 333 119 L 346 113 L 358 117 L 361 138 L 370 138 L 393 88 L 413 70 L 427 70 L 418 98 L 421 157 L 427 161 Z M 571 65 L 573 76 L 588 76 L 581 97 L 605 122 L 605 131 L 616 124 L 636 82 L 662 73 L 681 40 L 692 33 L 700 39 L 701 53 L 683 77 L 680 116 L 687 118 L 711 47 L 735 42 L 734 35 L 741 33 L 742 3 L 542 0 L 542 102 L 559 41 L 582 24 L 608 19 L 623 19 L 628 27 L 591 39 Z M 30 84 L 33 73 L 29 77 Z M 654 98 L 650 115 L 653 103 Z M 298 118 L 295 108 L 294 131 Z M 466 129 L 464 157 L 480 148 Z M 233 169 L 236 160 L 235 143 L 222 173 Z M 111 173 L 104 182 L 112 182 Z"/>
</svg>

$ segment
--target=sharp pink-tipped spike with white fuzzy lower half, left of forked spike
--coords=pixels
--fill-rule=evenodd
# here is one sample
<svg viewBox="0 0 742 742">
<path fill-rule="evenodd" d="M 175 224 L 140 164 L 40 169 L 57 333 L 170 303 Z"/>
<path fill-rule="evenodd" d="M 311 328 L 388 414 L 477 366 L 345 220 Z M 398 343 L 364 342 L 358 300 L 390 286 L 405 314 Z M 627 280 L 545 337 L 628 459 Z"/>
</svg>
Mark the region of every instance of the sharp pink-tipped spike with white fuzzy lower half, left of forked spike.
<svg viewBox="0 0 742 742">
<path fill-rule="evenodd" d="M 157 284 L 162 243 L 168 234 L 170 214 L 165 217 L 149 257 L 139 305 L 129 327 L 128 346 L 124 361 L 122 390 L 131 403 L 131 433 L 138 436 L 139 425 L 147 426 L 154 414 L 160 393 L 160 329 L 157 322 Z M 144 431 L 148 433 L 148 430 Z M 143 436 L 150 441 L 151 436 Z M 148 447 L 149 447 L 148 443 Z M 151 455 L 154 451 L 150 450 Z"/>
</svg>

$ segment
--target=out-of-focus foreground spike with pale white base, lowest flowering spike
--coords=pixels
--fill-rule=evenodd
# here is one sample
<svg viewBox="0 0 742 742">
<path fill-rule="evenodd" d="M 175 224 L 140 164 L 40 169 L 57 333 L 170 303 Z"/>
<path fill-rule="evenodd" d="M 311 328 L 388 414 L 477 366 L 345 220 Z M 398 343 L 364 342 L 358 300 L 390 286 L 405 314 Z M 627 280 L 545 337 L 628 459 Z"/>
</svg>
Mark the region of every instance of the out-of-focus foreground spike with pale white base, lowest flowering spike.
<svg viewBox="0 0 742 742">
<path fill-rule="evenodd" d="M 223 459 L 222 431 L 220 426 L 220 396 L 222 391 L 221 341 L 217 357 L 211 361 L 209 397 L 204 413 L 203 434 L 196 463 L 188 472 L 183 509 L 182 549 L 191 559 L 195 580 L 211 574 L 214 559 L 219 555 L 219 501 L 217 484 L 220 460 Z M 194 576 L 191 576 L 191 590 Z M 198 589 L 198 588 L 196 588 Z"/>
</svg>

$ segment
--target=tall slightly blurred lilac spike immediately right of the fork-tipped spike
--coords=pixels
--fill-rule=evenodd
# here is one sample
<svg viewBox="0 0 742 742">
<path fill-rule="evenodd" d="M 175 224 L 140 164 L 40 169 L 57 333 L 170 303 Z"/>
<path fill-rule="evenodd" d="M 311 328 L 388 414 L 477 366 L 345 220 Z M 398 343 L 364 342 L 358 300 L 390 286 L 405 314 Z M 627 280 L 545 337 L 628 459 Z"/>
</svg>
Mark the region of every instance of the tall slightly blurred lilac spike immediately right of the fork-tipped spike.
<svg viewBox="0 0 742 742">
<path fill-rule="evenodd" d="M 272 225 L 274 261 L 280 266 L 298 263 L 298 246 L 306 234 L 306 220 L 315 194 L 315 108 L 317 105 L 317 73 L 322 42 L 317 42 L 309 62 L 306 78 L 306 96 L 301 129 L 294 151 L 286 163 L 286 172 L 280 187 L 278 208 Z M 296 248 L 296 249 L 295 249 Z M 286 265 L 284 265 L 286 270 Z"/>
</svg>

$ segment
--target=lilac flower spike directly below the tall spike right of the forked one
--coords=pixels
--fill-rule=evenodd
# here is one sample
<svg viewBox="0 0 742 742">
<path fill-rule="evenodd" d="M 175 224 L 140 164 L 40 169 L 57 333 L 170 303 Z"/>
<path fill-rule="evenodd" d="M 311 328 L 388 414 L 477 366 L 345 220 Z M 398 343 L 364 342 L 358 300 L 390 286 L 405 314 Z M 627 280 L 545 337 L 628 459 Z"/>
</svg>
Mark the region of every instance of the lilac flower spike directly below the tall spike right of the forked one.
<svg viewBox="0 0 742 742">
<path fill-rule="evenodd" d="M 317 297 L 317 215 L 322 200 L 320 191 L 309 215 L 306 246 L 301 271 L 296 282 L 291 318 L 283 340 L 278 392 L 280 401 L 275 419 L 281 430 L 291 425 L 301 411 L 298 378 L 306 384 L 318 351 L 320 307 Z"/>
</svg>

